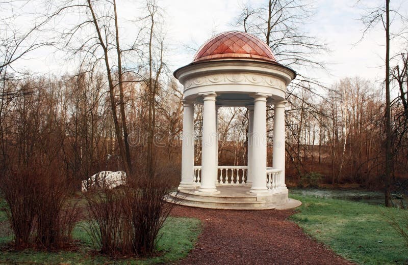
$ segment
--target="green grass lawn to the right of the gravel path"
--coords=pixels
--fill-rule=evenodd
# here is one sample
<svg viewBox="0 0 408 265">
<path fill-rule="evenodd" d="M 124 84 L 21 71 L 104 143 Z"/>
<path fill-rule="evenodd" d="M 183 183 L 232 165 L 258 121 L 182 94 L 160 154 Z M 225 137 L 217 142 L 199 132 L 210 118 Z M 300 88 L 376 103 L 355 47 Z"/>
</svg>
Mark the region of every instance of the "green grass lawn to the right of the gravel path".
<svg viewBox="0 0 408 265">
<path fill-rule="evenodd" d="M 303 230 L 360 264 L 406 264 L 408 249 L 384 215 L 403 221 L 403 210 L 339 199 L 292 195 L 302 201 L 291 217 Z"/>
</svg>

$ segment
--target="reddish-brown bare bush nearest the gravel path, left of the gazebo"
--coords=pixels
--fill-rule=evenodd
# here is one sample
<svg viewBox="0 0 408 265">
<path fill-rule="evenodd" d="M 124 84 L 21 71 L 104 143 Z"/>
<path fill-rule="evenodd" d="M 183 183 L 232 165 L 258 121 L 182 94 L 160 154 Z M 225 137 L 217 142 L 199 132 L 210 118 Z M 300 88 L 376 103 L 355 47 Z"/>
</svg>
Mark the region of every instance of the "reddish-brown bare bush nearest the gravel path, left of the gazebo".
<svg viewBox="0 0 408 265">
<path fill-rule="evenodd" d="M 165 202 L 171 186 L 166 179 L 127 179 L 122 188 L 92 190 L 88 200 L 89 234 L 101 253 L 150 256 L 173 204 Z"/>
</svg>

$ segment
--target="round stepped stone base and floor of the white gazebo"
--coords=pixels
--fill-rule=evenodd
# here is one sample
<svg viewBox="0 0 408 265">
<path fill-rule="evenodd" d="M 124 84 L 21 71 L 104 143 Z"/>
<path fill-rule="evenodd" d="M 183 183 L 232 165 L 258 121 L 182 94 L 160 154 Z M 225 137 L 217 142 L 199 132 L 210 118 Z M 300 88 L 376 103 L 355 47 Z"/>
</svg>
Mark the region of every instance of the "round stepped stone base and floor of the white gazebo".
<svg viewBox="0 0 408 265">
<path fill-rule="evenodd" d="M 248 186 L 218 186 L 219 194 L 196 194 L 196 190 L 180 190 L 167 197 L 168 202 L 197 208 L 224 210 L 286 210 L 299 207 L 301 202 L 288 198 L 288 190 L 263 196 L 247 194 Z"/>
</svg>

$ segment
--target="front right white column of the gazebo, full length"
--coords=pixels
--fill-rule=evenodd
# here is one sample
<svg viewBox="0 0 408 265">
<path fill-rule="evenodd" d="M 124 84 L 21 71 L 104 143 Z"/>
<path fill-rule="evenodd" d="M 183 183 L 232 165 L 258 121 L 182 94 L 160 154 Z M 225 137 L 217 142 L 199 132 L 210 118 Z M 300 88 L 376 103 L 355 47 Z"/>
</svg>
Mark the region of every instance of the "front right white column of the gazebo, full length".
<svg viewBox="0 0 408 265">
<path fill-rule="evenodd" d="M 253 106 L 252 136 L 252 187 L 251 194 L 268 193 L 266 187 L 266 98 L 267 95 L 256 94 Z"/>
</svg>

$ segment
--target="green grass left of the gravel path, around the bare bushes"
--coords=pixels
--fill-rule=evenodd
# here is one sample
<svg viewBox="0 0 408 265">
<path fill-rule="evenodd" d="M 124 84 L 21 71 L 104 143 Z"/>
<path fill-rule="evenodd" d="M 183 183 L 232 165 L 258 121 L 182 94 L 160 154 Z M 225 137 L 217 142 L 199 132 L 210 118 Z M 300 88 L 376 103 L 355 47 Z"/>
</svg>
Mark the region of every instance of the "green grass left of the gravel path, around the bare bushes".
<svg viewBox="0 0 408 265">
<path fill-rule="evenodd" d="M 39 252 L 0 251 L 0 264 L 154 264 L 169 263 L 184 258 L 193 248 L 194 242 L 201 231 L 200 221 L 193 218 L 167 218 L 161 230 L 162 238 L 158 242 L 161 255 L 149 259 L 120 259 L 113 260 L 106 256 L 91 254 L 92 242 L 89 239 L 85 222 L 75 227 L 73 238 L 81 240 L 78 252 Z M 0 244 L 5 244 L 11 238 L 0 238 Z"/>
</svg>

